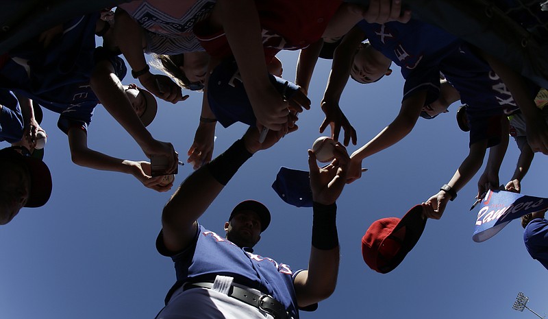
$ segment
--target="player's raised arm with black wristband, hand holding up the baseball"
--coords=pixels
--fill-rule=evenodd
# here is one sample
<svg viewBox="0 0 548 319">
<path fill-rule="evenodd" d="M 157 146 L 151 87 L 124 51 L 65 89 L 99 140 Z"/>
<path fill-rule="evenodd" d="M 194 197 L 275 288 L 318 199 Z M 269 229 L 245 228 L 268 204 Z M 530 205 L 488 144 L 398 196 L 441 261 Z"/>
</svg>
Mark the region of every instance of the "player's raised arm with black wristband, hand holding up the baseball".
<svg viewBox="0 0 548 319">
<path fill-rule="evenodd" d="M 314 219 L 308 270 L 299 272 L 293 281 L 300 307 L 329 297 L 337 282 L 339 246 L 335 202 L 345 187 L 350 158 L 340 143 L 336 144 L 334 154 L 336 159 L 331 164 L 319 168 L 316 156 L 308 150 Z"/>
</svg>

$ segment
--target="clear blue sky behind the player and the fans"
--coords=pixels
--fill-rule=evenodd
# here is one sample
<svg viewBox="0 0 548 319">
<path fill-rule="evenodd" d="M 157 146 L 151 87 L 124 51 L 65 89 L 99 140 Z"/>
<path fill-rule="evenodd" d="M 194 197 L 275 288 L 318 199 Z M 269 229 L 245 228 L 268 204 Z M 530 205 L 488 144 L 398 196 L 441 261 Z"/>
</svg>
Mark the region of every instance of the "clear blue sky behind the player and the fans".
<svg viewBox="0 0 548 319">
<path fill-rule="evenodd" d="M 297 53 L 282 52 L 280 57 L 284 78 L 294 79 Z M 253 156 L 200 220 L 223 233 L 223 222 L 240 200 L 264 202 L 273 220 L 256 252 L 294 270 L 308 264 L 312 209 L 285 204 L 271 184 L 280 166 L 307 169 L 306 150 L 320 135 L 320 100 L 329 67 L 325 60 L 316 67 L 310 86 L 312 109 L 301 114 L 299 130 Z M 128 75 L 123 83 L 131 81 Z M 348 147 L 349 152 L 397 115 L 402 87 L 397 67 L 377 84 L 349 82 L 341 106 L 358 130 L 358 145 Z M 157 139 L 175 145 L 182 161 L 192 144 L 200 105 L 199 93 L 190 93 L 190 99 L 176 105 L 160 102 L 158 117 L 149 126 Z M 301 318 L 533 318 L 512 310 L 518 292 L 530 297 L 528 306 L 540 315 L 548 311 L 548 272 L 527 254 L 519 222 L 484 243 L 472 241 L 477 209 L 469 208 L 479 174 L 449 202 L 441 220 L 427 222 L 421 240 L 399 268 L 377 274 L 362 260 L 360 239 L 369 225 L 382 217 L 401 217 L 437 193 L 468 153 L 468 136 L 455 121 L 457 106 L 434 120 L 419 119 L 406 139 L 364 160 L 369 171 L 347 185 L 338 200 L 341 259 L 336 292 L 316 312 L 301 312 Z M 57 119 L 45 110 L 51 199 L 41 209 L 23 209 L 0 228 L 0 318 L 154 318 L 175 282 L 171 259 L 154 246 L 162 207 L 175 188 L 156 193 L 132 176 L 74 165 Z M 218 125 L 214 154 L 243 132 L 243 125 Z M 92 149 L 145 159 L 101 106 L 88 136 Z M 518 154 L 510 141 L 501 182 L 511 177 Z M 523 193 L 548 197 L 547 163 L 546 156 L 536 156 Z M 190 165 L 180 167 L 176 185 L 191 172 Z"/>
</svg>

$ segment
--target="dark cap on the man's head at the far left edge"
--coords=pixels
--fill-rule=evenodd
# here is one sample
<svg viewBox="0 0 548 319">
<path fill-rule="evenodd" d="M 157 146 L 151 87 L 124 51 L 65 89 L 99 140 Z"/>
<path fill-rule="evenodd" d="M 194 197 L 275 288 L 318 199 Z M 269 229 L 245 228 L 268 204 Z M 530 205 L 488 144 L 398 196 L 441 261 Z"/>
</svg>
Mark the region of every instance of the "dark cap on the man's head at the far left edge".
<svg viewBox="0 0 548 319">
<path fill-rule="evenodd" d="M 18 152 L 21 147 L 6 147 L 0 150 L 0 161 L 20 163 L 27 167 L 30 176 L 30 193 L 25 207 L 43 206 L 51 196 L 51 173 L 46 163 L 38 158 L 30 157 L 25 148 L 23 154 Z"/>
</svg>

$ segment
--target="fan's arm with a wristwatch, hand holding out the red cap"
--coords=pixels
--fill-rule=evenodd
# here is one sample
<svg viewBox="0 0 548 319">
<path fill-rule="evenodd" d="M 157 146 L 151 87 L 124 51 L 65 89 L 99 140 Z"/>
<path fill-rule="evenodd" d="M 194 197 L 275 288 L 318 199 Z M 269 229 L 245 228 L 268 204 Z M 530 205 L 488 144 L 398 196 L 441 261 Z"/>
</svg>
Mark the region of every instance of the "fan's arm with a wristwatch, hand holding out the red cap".
<svg viewBox="0 0 548 319">
<path fill-rule="evenodd" d="M 477 141 L 470 146 L 468 156 L 462 161 L 453 178 L 449 180 L 447 185 L 458 193 L 464 185 L 477 173 L 484 161 L 485 152 L 487 149 L 487 140 Z M 434 220 L 439 220 L 445 211 L 445 206 L 449 200 L 453 199 L 447 191 L 440 190 L 434 194 L 426 202 L 423 202 L 424 215 Z"/>
</svg>

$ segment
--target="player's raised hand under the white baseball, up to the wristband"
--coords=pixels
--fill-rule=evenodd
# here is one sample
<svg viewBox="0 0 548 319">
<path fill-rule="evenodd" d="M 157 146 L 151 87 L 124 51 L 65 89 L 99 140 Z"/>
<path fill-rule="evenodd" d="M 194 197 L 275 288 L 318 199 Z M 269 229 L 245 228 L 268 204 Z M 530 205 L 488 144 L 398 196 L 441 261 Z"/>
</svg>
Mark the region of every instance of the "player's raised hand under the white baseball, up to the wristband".
<svg viewBox="0 0 548 319">
<path fill-rule="evenodd" d="M 320 168 L 316 155 L 308 150 L 312 199 L 319 204 L 333 204 L 346 184 L 350 156 L 340 143 L 335 144 L 334 156 L 335 159 L 329 165 Z"/>
</svg>

